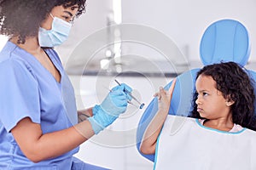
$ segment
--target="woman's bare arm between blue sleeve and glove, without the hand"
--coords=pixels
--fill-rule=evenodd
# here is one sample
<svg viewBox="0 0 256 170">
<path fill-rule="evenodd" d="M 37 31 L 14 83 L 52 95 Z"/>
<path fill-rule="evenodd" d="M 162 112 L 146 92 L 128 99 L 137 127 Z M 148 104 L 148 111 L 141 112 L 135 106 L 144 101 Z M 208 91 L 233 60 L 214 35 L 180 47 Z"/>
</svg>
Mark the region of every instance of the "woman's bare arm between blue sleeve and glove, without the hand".
<svg viewBox="0 0 256 170">
<path fill-rule="evenodd" d="M 26 133 L 24 133 L 26 132 Z M 53 133 L 42 133 L 41 126 L 26 117 L 11 130 L 24 155 L 33 162 L 61 156 L 94 135 L 89 121 Z"/>
</svg>

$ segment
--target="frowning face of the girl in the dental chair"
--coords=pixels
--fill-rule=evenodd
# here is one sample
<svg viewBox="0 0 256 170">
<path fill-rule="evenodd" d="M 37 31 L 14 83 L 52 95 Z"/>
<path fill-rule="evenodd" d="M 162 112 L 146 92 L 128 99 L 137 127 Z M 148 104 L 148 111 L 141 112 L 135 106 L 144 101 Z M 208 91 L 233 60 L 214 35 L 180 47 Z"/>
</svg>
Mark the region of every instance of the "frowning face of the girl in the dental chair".
<svg viewBox="0 0 256 170">
<path fill-rule="evenodd" d="M 195 88 L 198 93 L 195 104 L 201 117 L 217 120 L 231 115 L 230 104 L 233 103 L 224 99 L 212 77 L 200 75 L 195 82 Z"/>
</svg>

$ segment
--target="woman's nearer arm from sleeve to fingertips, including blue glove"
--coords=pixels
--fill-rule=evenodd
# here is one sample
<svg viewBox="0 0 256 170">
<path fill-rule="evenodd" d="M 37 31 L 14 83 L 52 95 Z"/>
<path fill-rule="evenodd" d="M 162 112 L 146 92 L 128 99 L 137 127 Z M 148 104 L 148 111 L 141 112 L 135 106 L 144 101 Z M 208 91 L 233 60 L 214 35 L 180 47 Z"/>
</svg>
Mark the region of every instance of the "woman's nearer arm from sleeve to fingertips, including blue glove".
<svg viewBox="0 0 256 170">
<path fill-rule="evenodd" d="M 102 104 L 92 109 L 95 111 L 93 116 L 73 127 L 43 133 L 40 124 L 25 117 L 17 123 L 11 133 L 24 155 L 33 162 L 61 156 L 108 127 L 121 113 L 126 111 L 129 97 L 125 94 L 124 88 L 127 90 L 126 88 L 129 87 L 122 85 L 113 88 Z M 129 90 L 131 91 L 131 88 Z"/>
</svg>

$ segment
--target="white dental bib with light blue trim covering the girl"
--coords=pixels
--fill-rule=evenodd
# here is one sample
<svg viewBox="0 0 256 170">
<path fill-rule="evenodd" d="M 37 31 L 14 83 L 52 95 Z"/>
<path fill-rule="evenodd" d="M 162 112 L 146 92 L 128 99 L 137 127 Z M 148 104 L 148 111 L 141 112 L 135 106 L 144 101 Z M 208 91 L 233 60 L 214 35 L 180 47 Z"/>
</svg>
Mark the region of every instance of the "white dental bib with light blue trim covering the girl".
<svg viewBox="0 0 256 170">
<path fill-rule="evenodd" d="M 256 132 L 229 133 L 204 127 L 195 118 L 168 115 L 154 169 L 256 170 Z"/>
</svg>

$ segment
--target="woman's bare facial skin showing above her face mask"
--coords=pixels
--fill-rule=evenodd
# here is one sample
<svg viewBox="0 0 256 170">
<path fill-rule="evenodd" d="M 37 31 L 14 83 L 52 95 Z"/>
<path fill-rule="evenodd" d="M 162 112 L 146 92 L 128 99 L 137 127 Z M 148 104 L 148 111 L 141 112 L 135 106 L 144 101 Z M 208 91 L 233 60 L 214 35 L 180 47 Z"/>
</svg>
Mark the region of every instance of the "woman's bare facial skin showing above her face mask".
<svg viewBox="0 0 256 170">
<path fill-rule="evenodd" d="M 72 7 L 64 8 L 61 6 L 56 6 L 55 8 L 52 8 L 50 14 L 52 14 L 54 17 L 58 17 L 61 20 L 65 20 L 67 22 L 70 22 L 73 20 L 75 15 L 77 14 L 79 10 L 78 5 L 74 5 Z M 46 19 L 41 23 L 41 27 L 50 30 L 52 26 L 53 18 L 50 16 L 50 14 L 46 17 Z"/>
</svg>

